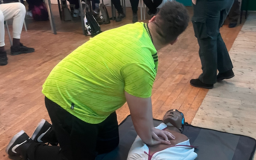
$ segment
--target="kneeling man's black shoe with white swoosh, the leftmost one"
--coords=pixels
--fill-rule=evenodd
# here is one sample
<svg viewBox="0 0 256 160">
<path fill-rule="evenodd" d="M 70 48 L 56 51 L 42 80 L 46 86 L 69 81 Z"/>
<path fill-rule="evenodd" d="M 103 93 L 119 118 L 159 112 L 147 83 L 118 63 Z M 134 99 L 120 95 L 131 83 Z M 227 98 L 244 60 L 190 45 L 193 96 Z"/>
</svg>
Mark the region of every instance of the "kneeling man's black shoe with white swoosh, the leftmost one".
<svg viewBox="0 0 256 160">
<path fill-rule="evenodd" d="M 24 131 L 20 131 L 12 138 L 10 143 L 7 145 L 6 153 L 9 154 L 9 156 L 26 155 L 25 152 L 27 151 L 31 143 L 32 140 L 29 140 L 29 136 Z"/>
</svg>

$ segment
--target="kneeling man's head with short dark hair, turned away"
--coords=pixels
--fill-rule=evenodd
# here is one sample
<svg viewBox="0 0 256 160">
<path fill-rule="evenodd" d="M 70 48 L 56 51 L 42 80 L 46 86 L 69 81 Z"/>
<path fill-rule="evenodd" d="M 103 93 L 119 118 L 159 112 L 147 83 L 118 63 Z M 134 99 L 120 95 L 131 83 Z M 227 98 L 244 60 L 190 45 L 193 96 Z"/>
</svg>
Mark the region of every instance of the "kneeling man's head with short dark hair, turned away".
<svg viewBox="0 0 256 160">
<path fill-rule="evenodd" d="M 162 37 L 162 43 L 168 44 L 177 39 L 185 31 L 189 23 L 186 7 L 174 1 L 163 5 L 154 20 L 156 32 Z"/>
</svg>

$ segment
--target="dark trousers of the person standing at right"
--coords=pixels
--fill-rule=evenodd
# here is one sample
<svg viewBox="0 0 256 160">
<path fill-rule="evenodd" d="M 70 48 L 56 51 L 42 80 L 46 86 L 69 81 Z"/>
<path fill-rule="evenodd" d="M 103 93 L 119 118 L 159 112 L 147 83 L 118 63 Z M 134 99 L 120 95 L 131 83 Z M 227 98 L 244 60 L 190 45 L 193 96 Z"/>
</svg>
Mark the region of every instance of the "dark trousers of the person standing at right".
<svg viewBox="0 0 256 160">
<path fill-rule="evenodd" d="M 214 84 L 217 69 L 220 73 L 233 68 L 226 45 L 221 38 L 220 27 L 224 23 L 234 0 L 197 0 L 192 23 L 199 44 L 199 56 L 203 73 L 199 79 Z"/>
</svg>

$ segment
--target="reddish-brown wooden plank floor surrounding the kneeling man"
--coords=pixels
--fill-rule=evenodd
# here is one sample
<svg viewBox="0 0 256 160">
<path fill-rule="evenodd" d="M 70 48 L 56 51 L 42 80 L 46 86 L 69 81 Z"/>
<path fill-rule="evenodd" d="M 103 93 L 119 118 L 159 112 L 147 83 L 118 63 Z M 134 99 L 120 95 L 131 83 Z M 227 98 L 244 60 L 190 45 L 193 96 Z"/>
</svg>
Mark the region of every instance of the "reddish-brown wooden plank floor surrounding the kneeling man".
<svg viewBox="0 0 256 160">
<path fill-rule="evenodd" d="M 89 40 L 89 37 L 82 35 L 79 18 L 74 22 L 62 22 L 57 7 L 52 5 L 52 8 L 58 35 L 51 33 L 49 22 L 27 19 L 29 30 L 22 33 L 21 40 L 24 45 L 34 47 L 36 52 L 8 55 L 9 64 L 0 66 L 0 160 L 9 159 L 5 148 L 14 134 L 24 130 L 31 135 L 42 118 L 50 121 L 44 107 L 41 86 L 61 59 Z M 192 9 L 188 9 L 192 15 Z M 128 8 L 127 12 L 125 20 L 102 25 L 102 30 L 131 23 L 131 9 Z M 228 49 L 233 45 L 240 29 L 241 25 L 233 29 L 226 25 L 221 28 Z M 8 54 L 9 47 L 6 37 Z M 197 78 L 201 73 L 198 43 L 192 24 L 189 23 L 188 29 L 175 45 L 162 49 L 158 54 L 159 71 L 152 96 L 153 116 L 162 119 L 167 110 L 176 108 L 185 114 L 186 121 L 190 123 L 208 92 L 189 85 L 189 80 Z M 122 122 L 129 114 L 127 105 L 120 108 L 117 114 L 118 121 Z"/>
</svg>

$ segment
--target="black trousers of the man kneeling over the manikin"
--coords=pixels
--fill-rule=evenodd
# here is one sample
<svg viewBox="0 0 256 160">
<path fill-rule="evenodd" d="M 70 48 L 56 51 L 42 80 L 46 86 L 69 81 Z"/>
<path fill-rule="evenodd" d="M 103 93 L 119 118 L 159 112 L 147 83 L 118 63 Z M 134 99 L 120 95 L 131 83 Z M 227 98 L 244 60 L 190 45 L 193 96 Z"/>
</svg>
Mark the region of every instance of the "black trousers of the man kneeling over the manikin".
<svg viewBox="0 0 256 160">
<path fill-rule="evenodd" d="M 32 143 L 29 160 L 94 160 L 97 154 L 110 152 L 119 144 L 115 112 L 99 124 L 89 124 L 47 98 L 45 105 L 60 146 Z"/>
</svg>

